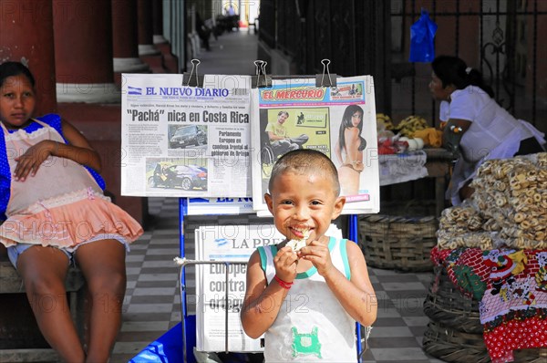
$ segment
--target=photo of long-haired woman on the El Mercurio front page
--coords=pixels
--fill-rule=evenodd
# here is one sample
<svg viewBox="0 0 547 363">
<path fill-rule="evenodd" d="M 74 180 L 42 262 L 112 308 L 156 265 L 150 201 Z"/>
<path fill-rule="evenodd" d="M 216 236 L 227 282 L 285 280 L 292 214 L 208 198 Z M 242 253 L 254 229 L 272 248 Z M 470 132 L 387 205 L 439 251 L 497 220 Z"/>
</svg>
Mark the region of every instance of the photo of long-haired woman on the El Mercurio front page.
<svg viewBox="0 0 547 363">
<path fill-rule="evenodd" d="M 340 132 L 335 145 L 340 195 L 356 195 L 359 191 L 360 173 L 364 169 L 363 150 L 366 140 L 361 137 L 363 130 L 363 109 L 349 105 L 342 116 Z"/>
</svg>

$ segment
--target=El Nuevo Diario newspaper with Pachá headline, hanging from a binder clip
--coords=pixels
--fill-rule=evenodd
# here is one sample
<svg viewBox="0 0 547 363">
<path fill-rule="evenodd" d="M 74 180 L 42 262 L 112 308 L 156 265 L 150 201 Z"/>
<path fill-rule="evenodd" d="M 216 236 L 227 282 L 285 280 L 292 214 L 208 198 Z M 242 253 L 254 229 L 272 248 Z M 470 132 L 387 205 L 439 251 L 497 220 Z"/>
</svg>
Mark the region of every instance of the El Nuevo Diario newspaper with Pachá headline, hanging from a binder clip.
<svg viewBox="0 0 547 363">
<path fill-rule="evenodd" d="M 250 197 L 250 79 L 123 74 L 121 193 Z"/>
</svg>

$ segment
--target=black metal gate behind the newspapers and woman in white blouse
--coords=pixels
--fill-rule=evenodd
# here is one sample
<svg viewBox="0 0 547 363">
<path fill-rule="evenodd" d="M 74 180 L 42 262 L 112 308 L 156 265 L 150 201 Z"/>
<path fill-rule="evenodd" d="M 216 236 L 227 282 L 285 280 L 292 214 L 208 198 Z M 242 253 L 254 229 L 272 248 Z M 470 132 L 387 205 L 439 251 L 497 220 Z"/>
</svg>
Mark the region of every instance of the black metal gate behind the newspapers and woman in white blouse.
<svg viewBox="0 0 547 363">
<path fill-rule="evenodd" d="M 439 25 L 438 55 L 480 69 L 504 108 L 547 130 L 545 0 L 261 0 L 260 36 L 300 74 L 329 58 L 338 75 L 373 75 L 378 112 L 434 125 L 429 64 L 408 62 L 409 26 L 422 8 Z"/>
</svg>

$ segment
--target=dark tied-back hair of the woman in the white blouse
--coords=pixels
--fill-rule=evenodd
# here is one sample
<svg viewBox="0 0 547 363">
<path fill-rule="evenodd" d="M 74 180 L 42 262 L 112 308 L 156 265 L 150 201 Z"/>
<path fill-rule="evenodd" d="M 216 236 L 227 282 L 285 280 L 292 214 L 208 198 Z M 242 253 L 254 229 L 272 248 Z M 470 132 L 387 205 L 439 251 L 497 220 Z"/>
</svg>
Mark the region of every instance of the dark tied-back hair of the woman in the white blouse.
<svg viewBox="0 0 547 363">
<path fill-rule="evenodd" d="M 442 87 L 452 84 L 458 89 L 477 86 L 493 98 L 494 90 L 488 86 L 482 74 L 475 68 L 470 68 L 459 57 L 439 56 L 431 63 L 433 72 L 442 82 Z"/>
</svg>

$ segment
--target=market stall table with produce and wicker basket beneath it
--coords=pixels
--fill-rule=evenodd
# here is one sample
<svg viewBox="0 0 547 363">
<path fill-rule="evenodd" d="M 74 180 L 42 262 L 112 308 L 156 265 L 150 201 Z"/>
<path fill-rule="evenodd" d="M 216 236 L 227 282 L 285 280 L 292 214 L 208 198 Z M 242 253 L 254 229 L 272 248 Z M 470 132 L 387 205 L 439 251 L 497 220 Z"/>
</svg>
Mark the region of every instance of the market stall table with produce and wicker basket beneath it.
<svg viewBox="0 0 547 363">
<path fill-rule="evenodd" d="M 358 241 L 366 264 L 398 271 L 431 271 L 430 252 L 437 244 L 435 233 L 445 208 L 453 155 L 439 147 L 440 131 L 429 128 L 426 120 L 417 116 L 394 126 L 387 115 L 377 114 L 377 135 L 380 186 L 434 178 L 435 208 L 433 212 L 427 202 L 416 199 L 394 200 L 383 203 L 381 214 L 360 216 Z"/>
</svg>

